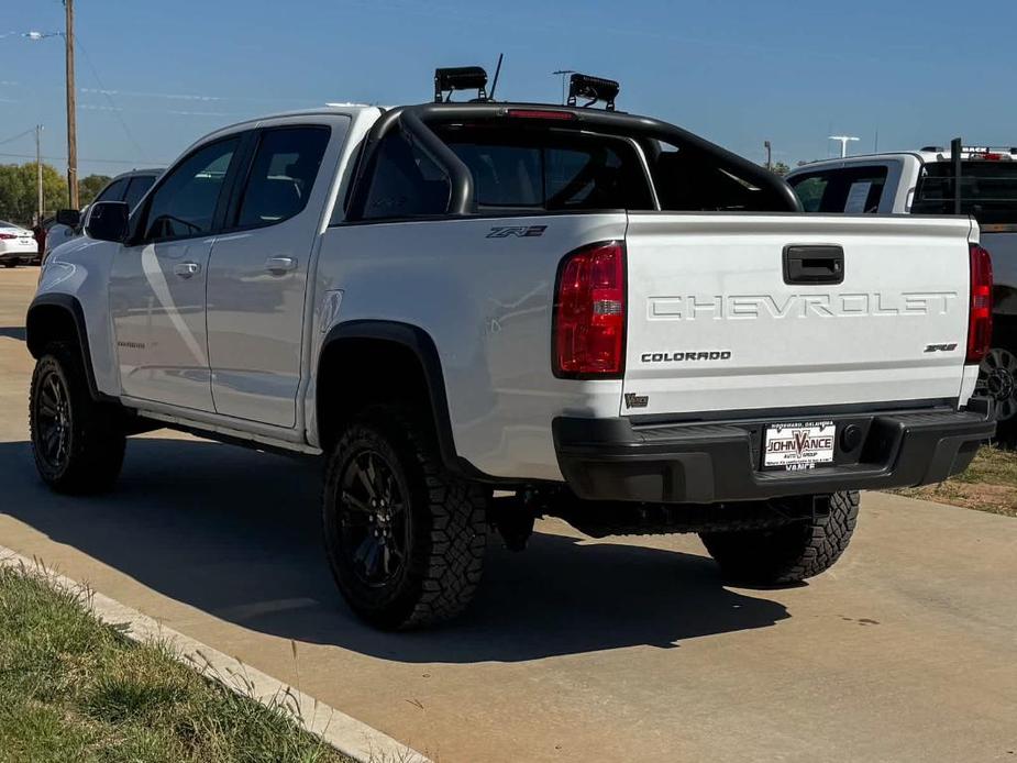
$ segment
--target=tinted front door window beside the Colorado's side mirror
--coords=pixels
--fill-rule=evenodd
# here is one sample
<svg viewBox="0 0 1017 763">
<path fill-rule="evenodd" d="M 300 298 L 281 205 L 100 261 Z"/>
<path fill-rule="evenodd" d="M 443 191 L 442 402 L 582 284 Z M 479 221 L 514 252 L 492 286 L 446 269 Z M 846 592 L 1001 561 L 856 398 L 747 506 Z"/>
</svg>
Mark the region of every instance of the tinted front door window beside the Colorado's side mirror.
<svg viewBox="0 0 1017 763">
<path fill-rule="evenodd" d="M 211 232 L 226 173 L 239 145 L 239 136 L 217 141 L 169 172 L 147 204 L 145 241 Z"/>
</svg>

